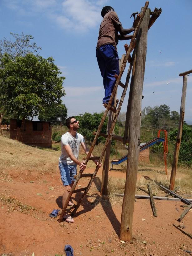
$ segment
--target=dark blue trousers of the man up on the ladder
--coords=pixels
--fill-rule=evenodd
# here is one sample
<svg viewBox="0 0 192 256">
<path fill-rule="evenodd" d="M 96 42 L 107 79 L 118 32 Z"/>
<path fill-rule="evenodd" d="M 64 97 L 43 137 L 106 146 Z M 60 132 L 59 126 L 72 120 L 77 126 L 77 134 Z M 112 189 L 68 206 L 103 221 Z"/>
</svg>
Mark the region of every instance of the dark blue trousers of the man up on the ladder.
<svg viewBox="0 0 192 256">
<path fill-rule="evenodd" d="M 109 102 L 113 87 L 116 83 L 114 75 L 119 75 L 119 57 L 112 44 L 105 44 L 97 48 L 96 57 L 105 88 L 104 104 Z M 112 102 L 112 104 L 114 104 L 114 102 Z"/>
</svg>

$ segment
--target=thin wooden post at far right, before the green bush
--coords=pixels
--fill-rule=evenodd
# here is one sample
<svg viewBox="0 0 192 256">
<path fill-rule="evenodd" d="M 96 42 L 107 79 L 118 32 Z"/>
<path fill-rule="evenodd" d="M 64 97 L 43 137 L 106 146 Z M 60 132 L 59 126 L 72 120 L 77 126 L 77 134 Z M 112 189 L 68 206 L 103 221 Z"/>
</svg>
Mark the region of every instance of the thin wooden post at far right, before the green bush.
<svg viewBox="0 0 192 256">
<path fill-rule="evenodd" d="M 186 90 L 187 90 L 187 74 L 190 74 L 192 70 L 187 71 L 185 73 L 179 74 L 179 76 L 183 76 L 183 89 L 182 89 L 182 96 L 181 96 L 181 108 L 180 108 L 180 119 L 179 119 L 179 128 L 177 133 L 177 140 L 175 144 L 175 151 L 174 151 L 174 158 L 171 170 L 171 178 L 169 189 L 173 190 L 175 186 L 175 177 L 176 177 L 176 170 L 178 164 L 178 157 L 179 157 L 179 149 L 181 144 L 181 137 L 183 131 L 183 121 L 184 121 L 184 113 L 185 113 L 185 98 L 186 98 Z"/>
</svg>

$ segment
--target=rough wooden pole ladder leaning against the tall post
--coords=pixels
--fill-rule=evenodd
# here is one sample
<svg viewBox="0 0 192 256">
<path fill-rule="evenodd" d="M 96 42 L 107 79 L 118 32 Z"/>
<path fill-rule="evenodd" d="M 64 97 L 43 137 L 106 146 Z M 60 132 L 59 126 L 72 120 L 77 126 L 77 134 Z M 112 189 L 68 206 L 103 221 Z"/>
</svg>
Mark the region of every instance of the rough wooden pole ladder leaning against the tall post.
<svg viewBox="0 0 192 256">
<path fill-rule="evenodd" d="M 111 94 L 109 103 L 108 103 L 107 108 L 106 108 L 106 110 L 105 110 L 105 112 L 104 112 L 104 114 L 103 114 L 103 117 L 102 117 L 102 119 L 101 119 L 100 125 L 99 125 L 99 127 L 98 127 L 98 129 L 97 129 L 97 132 L 96 132 L 95 138 L 94 138 L 94 140 L 93 140 L 93 142 L 92 142 L 92 145 L 91 145 L 91 148 L 90 148 L 90 150 L 89 150 L 89 153 L 88 153 L 87 156 L 86 156 L 85 165 L 87 164 L 87 162 L 88 162 L 89 160 L 94 160 L 94 159 L 99 159 L 99 163 L 102 162 L 102 159 L 103 159 L 104 154 L 105 154 L 105 151 L 106 151 L 106 147 L 107 147 L 108 143 L 110 142 L 111 137 L 112 137 L 112 135 L 113 135 L 113 129 L 114 129 L 114 127 L 115 127 L 115 124 L 116 124 L 116 121 L 117 121 L 117 117 L 118 117 L 118 115 L 119 115 L 119 112 L 120 112 L 120 110 L 121 110 L 121 106 L 122 106 L 122 104 L 123 104 L 123 100 L 124 100 L 125 95 L 126 95 L 126 91 L 127 91 L 127 87 L 128 87 L 128 83 L 129 83 L 129 79 L 130 79 L 130 74 L 131 74 L 133 62 L 134 62 L 134 59 L 135 59 L 135 54 L 136 54 L 136 47 L 134 48 L 134 46 L 135 46 L 135 38 L 136 38 L 137 32 L 138 32 L 138 30 L 139 30 L 140 24 L 141 24 L 141 22 L 142 22 L 142 20 L 143 20 L 143 17 L 144 17 L 144 15 L 145 15 L 146 10 L 147 10 L 147 6 L 145 6 L 145 7 L 143 8 L 143 11 L 142 11 L 141 14 L 140 14 L 140 20 L 139 20 L 139 22 L 138 22 L 137 27 L 135 28 L 135 31 L 134 31 L 134 33 L 133 33 L 132 38 L 131 38 L 131 42 L 130 42 L 129 49 L 128 49 L 128 51 L 126 52 L 126 55 L 124 55 L 124 56 L 122 57 L 122 60 L 121 60 L 122 66 L 121 66 L 121 70 L 120 70 L 119 76 L 118 76 L 118 78 L 117 78 L 117 80 L 116 80 L 116 83 L 115 83 L 115 86 L 114 86 L 114 88 L 113 88 L 113 91 L 112 91 L 112 94 Z M 122 77 L 123 72 L 124 72 L 124 70 L 125 70 L 125 67 L 126 67 L 126 64 L 127 64 L 127 61 L 128 61 L 128 57 L 129 57 L 129 55 L 130 55 L 130 52 L 133 50 L 133 48 L 134 48 L 134 51 L 133 51 L 132 58 L 131 58 L 131 62 L 130 62 L 130 65 L 129 65 L 129 69 L 128 69 L 128 72 L 127 72 L 126 82 L 125 82 L 125 85 L 123 85 L 120 80 L 121 80 L 121 77 Z M 118 85 L 121 85 L 121 87 L 123 87 L 123 92 L 122 92 L 122 95 L 121 95 L 121 100 L 119 101 L 119 105 L 118 105 L 118 107 L 117 107 L 117 111 L 116 111 L 114 120 L 113 120 L 113 122 L 112 122 L 112 124 L 111 124 L 111 128 L 110 128 L 110 130 L 109 130 L 108 135 L 106 135 L 107 138 L 106 138 L 105 145 L 104 145 L 104 147 L 103 147 L 103 150 L 102 150 L 102 153 L 101 153 L 100 157 L 91 157 L 91 153 L 92 153 L 92 151 L 93 151 L 93 149 L 94 149 L 94 147 L 95 147 L 95 145 L 96 145 L 96 141 L 97 141 L 98 137 L 101 135 L 100 132 L 101 132 L 102 126 L 103 126 L 103 124 L 104 124 L 104 121 L 105 121 L 105 119 L 106 119 L 106 116 L 107 116 L 107 114 L 108 114 L 108 111 L 109 111 L 109 109 L 110 109 L 110 107 L 111 107 L 111 104 L 112 104 L 113 98 L 114 98 L 114 96 L 115 96 L 115 93 L 116 93 L 116 90 L 117 90 Z M 82 194 L 81 198 L 79 199 L 78 203 L 76 204 L 76 206 L 75 206 L 75 208 L 74 208 L 74 210 L 72 211 L 71 214 L 73 215 L 73 214 L 76 213 L 76 211 L 77 211 L 77 209 L 79 208 L 79 206 L 80 206 L 82 200 L 84 199 L 84 197 L 86 196 L 87 192 L 89 191 L 89 189 L 90 189 L 90 187 L 91 187 L 91 185 L 92 185 L 92 183 L 93 183 L 93 180 L 94 180 L 94 178 L 96 177 L 96 174 L 97 174 L 98 170 L 99 170 L 99 167 L 96 166 L 96 169 L 95 169 L 95 171 L 94 171 L 93 174 L 83 174 L 83 170 L 80 170 L 80 171 L 79 171 L 78 175 L 76 176 L 76 180 L 75 180 L 75 182 L 74 182 L 72 188 L 71 188 L 70 190 L 68 190 L 69 195 L 68 195 L 68 197 L 67 197 L 67 199 L 66 199 L 65 204 L 63 205 L 63 209 L 62 209 L 60 218 L 58 219 L 59 222 L 61 222 L 61 221 L 63 220 L 64 214 L 65 214 L 65 212 L 66 212 L 66 209 L 67 209 L 67 206 L 68 206 L 68 203 L 69 203 L 69 201 L 70 201 L 70 199 L 71 199 L 72 194 L 77 193 L 77 192 L 84 191 L 84 193 Z M 80 180 L 80 178 L 83 178 L 83 177 L 91 177 L 91 179 L 90 179 L 90 181 L 89 181 L 89 184 L 88 184 L 87 187 L 85 187 L 85 188 L 75 189 L 75 188 L 76 188 L 76 185 L 78 184 L 78 182 L 79 182 L 79 180 Z"/>
</svg>

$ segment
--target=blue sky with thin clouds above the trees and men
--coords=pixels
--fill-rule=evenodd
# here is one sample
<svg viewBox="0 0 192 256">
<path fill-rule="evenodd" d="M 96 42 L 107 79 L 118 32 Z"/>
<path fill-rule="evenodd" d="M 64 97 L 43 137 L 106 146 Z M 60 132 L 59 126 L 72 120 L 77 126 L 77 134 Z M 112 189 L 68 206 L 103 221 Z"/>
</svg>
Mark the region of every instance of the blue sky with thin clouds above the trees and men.
<svg viewBox="0 0 192 256">
<path fill-rule="evenodd" d="M 31 34 L 44 58 L 52 56 L 66 77 L 63 103 L 68 116 L 104 110 L 103 81 L 96 60 L 96 43 L 101 9 L 112 6 L 124 28 L 132 27 L 130 15 L 145 1 L 115 0 L 1 0 L 0 39 L 10 32 Z M 162 14 L 148 32 L 148 48 L 142 109 L 167 104 L 180 112 L 182 77 L 192 69 L 191 0 L 151 0 L 149 8 L 162 8 Z M 119 57 L 124 54 L 120 41 Z M 129 41 L 128 41 L 129 44 Z M 128 65 L 126 67 L 126 70 Z M 126 73 L 126 71 L 124 72 Z M 121 81 L 125 82 L 125 76 Z M 118 88 L 118 98 L 122 89 Z M 192 123 L 192 74 L 188 76 L 185 120 Z M 121 112 L 127 108 L 128 92 Z"/>
</svg>

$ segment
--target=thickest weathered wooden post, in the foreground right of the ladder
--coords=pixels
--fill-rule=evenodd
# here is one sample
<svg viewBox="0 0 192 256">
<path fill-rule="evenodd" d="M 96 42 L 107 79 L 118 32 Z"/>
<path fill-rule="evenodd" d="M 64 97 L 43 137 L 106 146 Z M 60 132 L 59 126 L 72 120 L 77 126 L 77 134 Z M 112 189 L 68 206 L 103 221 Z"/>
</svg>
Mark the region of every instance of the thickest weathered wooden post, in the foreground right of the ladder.
<svg viewBox="0 0 192 256">
<path fill-rule="evenodd" d="M 143 91 L 143 80 L 145 72 L 145 60 L 147 52 L 147 31 L 149 25 L 151 10 L 148 8 L 143 22 L 141 23 L 139 32 L 137 34 L 137 57 L 135 64 L 134 86 L 132 95 L 132 107 L 130 112 L 130 126 L 129 126 L 129 149 L 127 161 L 126 184 L 123 198 L 123 207 L 121 214 L 121 240 L 132 240 L 132 222 L 133 210 L 135 201 L 135 191 L 137 182 L 138 157 L 139 146 L 138 139 L 140 139 L 140 107 Z"/>
</svg>

